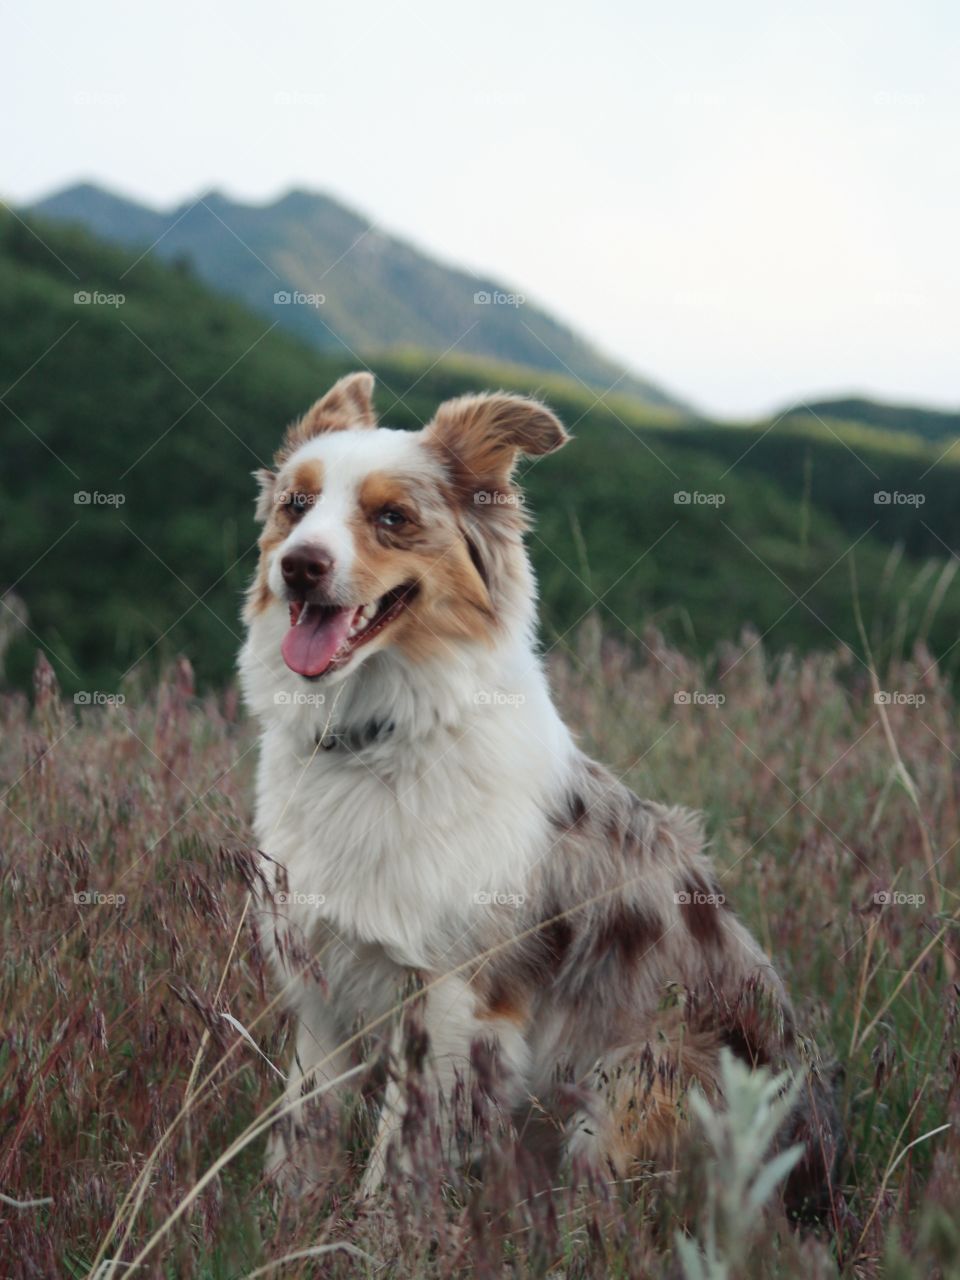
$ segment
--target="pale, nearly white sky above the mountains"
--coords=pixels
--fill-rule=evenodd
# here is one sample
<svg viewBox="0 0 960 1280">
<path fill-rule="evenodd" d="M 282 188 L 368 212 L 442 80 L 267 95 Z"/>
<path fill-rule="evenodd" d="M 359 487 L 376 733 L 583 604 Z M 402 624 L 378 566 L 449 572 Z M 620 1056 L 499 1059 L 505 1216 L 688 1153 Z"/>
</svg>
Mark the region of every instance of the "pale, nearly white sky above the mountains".
<svg viewBox="0 0 960 1280">
<path fill-rule="evenodd" d="M 323 189 L 713 412 L 960 406 L 956 4 L 38 0 L 4 27 L 8 201 Z"/>
</svg>

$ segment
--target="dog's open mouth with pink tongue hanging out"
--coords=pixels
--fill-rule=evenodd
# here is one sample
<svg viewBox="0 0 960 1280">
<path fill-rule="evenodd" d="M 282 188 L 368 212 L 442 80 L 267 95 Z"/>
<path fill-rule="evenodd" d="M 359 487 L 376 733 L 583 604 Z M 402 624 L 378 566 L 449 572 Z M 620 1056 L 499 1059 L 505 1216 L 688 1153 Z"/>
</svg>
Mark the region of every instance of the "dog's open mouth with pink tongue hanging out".
<svg viewBox="0 0 960 1280">
<path fill-rule="evenodd" d="M 291 603 L 291 628 L 283 637 L 283 660 L 298 676 L 315 680 L 349 662 L 353 652 L 367 644 L 399 617 L 416 594 L 408 582 L 387 591 L 374 604 Z"/>
</svg>

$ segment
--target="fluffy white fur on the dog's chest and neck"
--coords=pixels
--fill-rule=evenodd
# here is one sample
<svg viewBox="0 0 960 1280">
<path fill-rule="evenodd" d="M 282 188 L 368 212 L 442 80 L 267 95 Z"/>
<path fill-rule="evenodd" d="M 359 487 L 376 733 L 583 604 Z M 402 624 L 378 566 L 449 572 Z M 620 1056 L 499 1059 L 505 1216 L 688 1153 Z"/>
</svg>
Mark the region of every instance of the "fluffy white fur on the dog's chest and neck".
<svg viewBox="0 0 960 1280">
<path fill-rule="evenodd" d="M 452 676 L 384 657 L 339 699 L 334 689 L 321 707 L 278 704 L 274 678 L 250 653 L 256 639 L 255 627 L 242 660 L 265 722 L 256 832 L 285 869 L 284 914 L 307 936 L 325 920 L 399 964 L 430 966 L 489 895 L 524 892 L 549 845 L 572 744 L 539 662 L 486 653 Z M 342 708 L 353 723 L 393 727 L 366 746 L 317 748 Z"/>
</svg>

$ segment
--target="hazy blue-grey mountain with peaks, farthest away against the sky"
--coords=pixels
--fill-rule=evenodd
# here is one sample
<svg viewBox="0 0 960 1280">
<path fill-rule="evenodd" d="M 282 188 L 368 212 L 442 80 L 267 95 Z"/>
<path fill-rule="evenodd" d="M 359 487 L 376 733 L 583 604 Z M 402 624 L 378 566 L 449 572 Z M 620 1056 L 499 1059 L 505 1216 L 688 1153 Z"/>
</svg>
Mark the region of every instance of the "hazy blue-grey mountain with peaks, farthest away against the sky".
<svg viewBox="0 0 960 1280">
<path fill-rule="evenodd" d="M 445 266 L 328 196 L 291 191 L 271 205 L 244 205 L 207 192 L 161 212 L 82 183 L 32 209 L 188 262 L 215 289 L 324 352 L 453 349 L 572 374 L 602 392 L 616 383 L 620 393 L 648 404 L 684 407 L 545 311 L 518 302 L 516 288 Z M 134 280 L 136 268 L 131 285 Z"/>
</svg>

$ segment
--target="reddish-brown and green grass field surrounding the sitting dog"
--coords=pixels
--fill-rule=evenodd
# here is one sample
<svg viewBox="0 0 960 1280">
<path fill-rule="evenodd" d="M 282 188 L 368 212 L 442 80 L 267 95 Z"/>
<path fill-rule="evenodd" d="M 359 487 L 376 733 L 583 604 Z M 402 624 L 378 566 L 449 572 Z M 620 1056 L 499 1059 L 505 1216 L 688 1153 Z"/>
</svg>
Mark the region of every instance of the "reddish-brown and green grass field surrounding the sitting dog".
<svg viewBox="0 0 960 1280">
<path fill-rule="evenodd" d="M 644 643 L 588 622 L 552 655 L 559 703 L 636 791 L 704 810 L 724 893 L 842 1069 L 829 1220 L 795 1234 L 773 1203 L 721 1224 L 721 1262 L 959 1276 L 952 694 L 923 650 L 874 681 L 846 649 L 774 662 L 745 636 L 695 663 Z M 426 1160 L 361 1203 L 332 1134 L 329 1188 L 278 1203 L 262 1134 L 237 1140 L 291 1048 L 246 909 L 252 726 L 186 663 L 123 696 L 78 707 L 40 659 L 33 701 L 1 703 L 0 1275 L 692 1275 L 677 1233 L 717 1229 L 728 1178 L 703 1160 L 543 1193 L 494 1134 L 483 1183 Z"/>
</svg>

